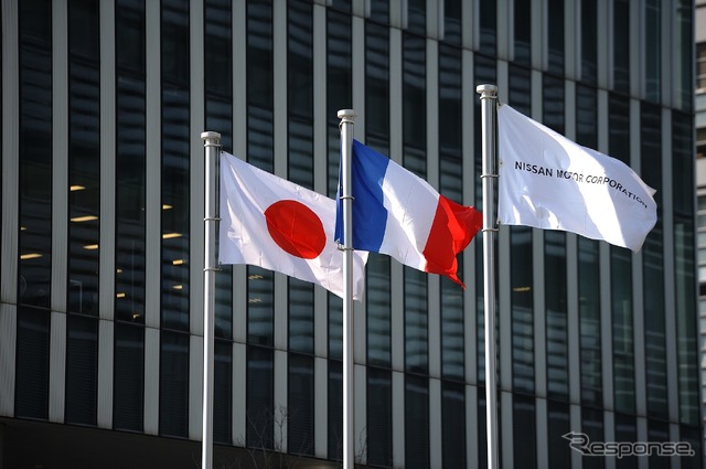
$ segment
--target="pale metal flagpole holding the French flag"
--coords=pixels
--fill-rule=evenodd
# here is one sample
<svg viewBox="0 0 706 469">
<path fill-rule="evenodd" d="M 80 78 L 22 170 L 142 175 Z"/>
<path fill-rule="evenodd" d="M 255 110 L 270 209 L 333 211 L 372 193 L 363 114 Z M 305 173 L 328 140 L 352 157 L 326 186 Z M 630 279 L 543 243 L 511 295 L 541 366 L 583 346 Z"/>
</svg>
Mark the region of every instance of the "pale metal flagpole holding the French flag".
<svg viewBox="0 0 706 469">
<path fill-rule="evenodd" d="M 353 196 L 351 161 L 353 152 L 353 109 L 341 109 L 341 200 L 343 201 L 343 469 L 353 469 Z"/>
</svg>

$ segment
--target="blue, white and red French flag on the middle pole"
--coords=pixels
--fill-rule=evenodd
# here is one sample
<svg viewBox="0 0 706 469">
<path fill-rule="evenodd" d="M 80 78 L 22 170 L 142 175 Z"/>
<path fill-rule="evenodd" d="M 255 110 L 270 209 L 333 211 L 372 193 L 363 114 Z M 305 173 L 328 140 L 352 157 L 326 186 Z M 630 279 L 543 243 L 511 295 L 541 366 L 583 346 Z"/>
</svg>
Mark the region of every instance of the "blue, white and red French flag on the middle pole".
<svg viewBox="0 0 706 469">
<path fill-rule="evenodd" d="M 402 264 L 466 286 L 456 256 L 482 227 L 481 212 L 450 201 L 389 158 L 353 140 L 353 248 L 387 254 Z M 338 200 L 335 235 L 343 239 Z"/>
</svg>

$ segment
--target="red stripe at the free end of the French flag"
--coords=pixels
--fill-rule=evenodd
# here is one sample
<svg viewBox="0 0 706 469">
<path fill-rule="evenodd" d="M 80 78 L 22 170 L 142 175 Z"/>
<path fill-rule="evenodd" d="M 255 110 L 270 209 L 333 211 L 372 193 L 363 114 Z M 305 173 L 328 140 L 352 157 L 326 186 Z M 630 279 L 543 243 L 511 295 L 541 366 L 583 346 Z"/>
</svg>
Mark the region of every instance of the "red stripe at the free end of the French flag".
<svg viewBox="0 0 706 469">
<path fill-rule="evenodd" d="M 456 256 L 468 246 L 482 226 L 481 212 L 439 195 L 437 213 L 434 215 L 429 238 L 422 253 L 427 259 L 425 270 L 429 274 L 446 275 L 466 288 L 457 275 Z"/>
</svg>

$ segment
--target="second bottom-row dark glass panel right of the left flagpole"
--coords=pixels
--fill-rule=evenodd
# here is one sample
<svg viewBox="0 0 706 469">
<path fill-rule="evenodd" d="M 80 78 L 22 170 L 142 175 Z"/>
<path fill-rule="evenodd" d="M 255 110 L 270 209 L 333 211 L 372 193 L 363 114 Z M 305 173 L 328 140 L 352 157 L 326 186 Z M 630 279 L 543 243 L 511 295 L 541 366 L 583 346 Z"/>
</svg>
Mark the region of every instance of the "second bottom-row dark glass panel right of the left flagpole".
<svg viewBox="0 0 706 469">
<path fill-rule="evenodd" d="M 246 440 L 248 448 L 275 449 L 275 358 L 271 349 L 247 348 Z"/>
</svg>

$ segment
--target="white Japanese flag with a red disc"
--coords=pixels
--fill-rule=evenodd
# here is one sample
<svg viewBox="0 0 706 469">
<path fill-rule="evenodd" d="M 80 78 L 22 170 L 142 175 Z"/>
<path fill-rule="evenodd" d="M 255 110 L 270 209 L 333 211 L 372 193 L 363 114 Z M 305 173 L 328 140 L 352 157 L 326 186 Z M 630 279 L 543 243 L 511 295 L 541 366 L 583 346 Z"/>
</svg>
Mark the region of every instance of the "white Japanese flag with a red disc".
<svg viewBox="0 0 706 469">
<path fill-rule="evenodd" d="M 222 264 L 249 264 L 322 286 L 343 298 L 335 201 L 221 153 Z M 365 288 L 367 253 L 353 253 L 353 298 Z"/>
</svg>

